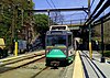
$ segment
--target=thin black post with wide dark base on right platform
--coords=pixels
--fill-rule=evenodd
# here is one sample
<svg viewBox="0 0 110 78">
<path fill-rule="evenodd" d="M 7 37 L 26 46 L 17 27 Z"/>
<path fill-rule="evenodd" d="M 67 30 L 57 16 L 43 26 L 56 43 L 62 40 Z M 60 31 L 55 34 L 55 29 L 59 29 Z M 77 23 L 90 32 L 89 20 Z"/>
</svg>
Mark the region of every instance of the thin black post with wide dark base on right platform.
<svg viewBox="0 0 110 78">
<path fill-rule="evenodd" d="M 101 63 L 105 63 L 105 56 L 103 56 L 103 19 L 101 20 L 101 52 L 102 52 L 102 56 L 101 56 Z"/>
</svg>

